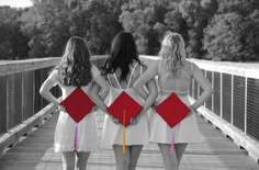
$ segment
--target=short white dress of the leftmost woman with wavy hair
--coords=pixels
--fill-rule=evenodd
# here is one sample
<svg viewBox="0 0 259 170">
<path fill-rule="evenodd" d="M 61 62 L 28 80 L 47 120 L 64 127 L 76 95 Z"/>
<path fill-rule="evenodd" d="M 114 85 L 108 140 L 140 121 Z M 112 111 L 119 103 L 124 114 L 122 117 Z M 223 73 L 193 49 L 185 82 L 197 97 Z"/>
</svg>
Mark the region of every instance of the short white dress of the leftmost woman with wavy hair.
<svg viewBox="0 0 259 170">
<path fill-rule="evenodd" d="M 94 65 L 92 65 L 91 72 L 93 77 L 92 79 L 94 79 L 97 76 L 100 76 L 100 71 Z M 57 70 L 54 70 L 49 75 L 48 79 L 60 87 L 63 100 L 76 89 L 76 87 L 67 87 L 61 84 L 58 81 Z M 88 93 L 91 86 L 92 82 L 90 82 L 88 86 L 81 87 L 81 89 Z M 98 139 L 97 122 L 93 113 L 94 112 L 88 114 L 78 123 L 77 148 L 75 149 L 76 122 L 69 116 L 68 113 L 60 111 L 54 136 L 54 149 L 56 152 L 74 150 L 92 151 L 99 148 L 100 141 Z"/>
</svg>

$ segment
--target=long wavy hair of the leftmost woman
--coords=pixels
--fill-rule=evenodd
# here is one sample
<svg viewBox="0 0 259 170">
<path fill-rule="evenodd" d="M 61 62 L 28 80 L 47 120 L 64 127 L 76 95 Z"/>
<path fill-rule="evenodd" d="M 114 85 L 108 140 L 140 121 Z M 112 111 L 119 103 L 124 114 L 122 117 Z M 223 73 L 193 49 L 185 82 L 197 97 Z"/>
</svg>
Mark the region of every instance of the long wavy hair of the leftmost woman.
<svg viewBox="0 0 259 170">
<path fill-rule="evenodd" d="M 68 39 L 61 63 L 56 67 L 65 86 L 82 87 L 92 80 L 90 53 L 83 38 Z"/>
</svg>

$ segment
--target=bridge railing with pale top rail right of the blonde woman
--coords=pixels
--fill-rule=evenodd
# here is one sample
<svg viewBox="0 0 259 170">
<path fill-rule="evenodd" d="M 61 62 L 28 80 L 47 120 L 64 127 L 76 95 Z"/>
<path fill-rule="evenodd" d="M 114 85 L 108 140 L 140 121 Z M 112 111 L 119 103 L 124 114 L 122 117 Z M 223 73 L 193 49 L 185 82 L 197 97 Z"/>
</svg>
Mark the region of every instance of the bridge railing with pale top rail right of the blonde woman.
<svg viewBox="0 0 259 170">
<path fill-rule="evenodd" d="M 214 88 L 199 111 L 259 160 L 259 64 L 190 60 L 203 70 Z M 196 100 L 202 89 L 192 80 L 189 92 Z"/>
</svg>

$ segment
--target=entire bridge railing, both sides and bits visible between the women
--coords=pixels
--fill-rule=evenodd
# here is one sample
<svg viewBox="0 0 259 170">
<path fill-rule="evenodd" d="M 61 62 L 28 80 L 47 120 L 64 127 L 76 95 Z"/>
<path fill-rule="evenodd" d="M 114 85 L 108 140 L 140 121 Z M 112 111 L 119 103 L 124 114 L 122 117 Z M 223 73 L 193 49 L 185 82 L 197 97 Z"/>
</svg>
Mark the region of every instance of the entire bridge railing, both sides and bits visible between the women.
<svg viewBox="0 0 259 170">
<path fill-rule="evenodd" d="M 100 67 L 106 56 L 93 56 Z M 140 56 L 150 66 L 155 56 Z M 0 61 L 0 152 L 41 125 L 54 111 L 38 93 L 40 87 L 60 58 Z M 199 110 L 240 147 L 259 158 L 259 64 L 219 63 L 190 59 L 211 81 L 214 93 Z M 53 89 L 56 97 L 58 88 Z M 202 89 L 194 80 L 190 97 L 195 100 Z"/>
</svg>

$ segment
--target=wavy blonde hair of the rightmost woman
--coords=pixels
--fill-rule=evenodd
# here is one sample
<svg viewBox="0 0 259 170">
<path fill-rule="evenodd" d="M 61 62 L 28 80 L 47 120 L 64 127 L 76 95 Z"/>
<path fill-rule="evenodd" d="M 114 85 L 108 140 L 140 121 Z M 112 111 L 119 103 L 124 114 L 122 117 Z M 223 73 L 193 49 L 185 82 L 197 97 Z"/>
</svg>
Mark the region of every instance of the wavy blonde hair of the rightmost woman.
<svg viewBox="0 0 259 170">
<path fill-rule="evenodd" d="M 167 32 L 162 42 L 159 56 L 165 60 L 166 69 L 177 76 L 181 71 L 185 59 L 184 41 L 178 33 Z"/>
</svg>

